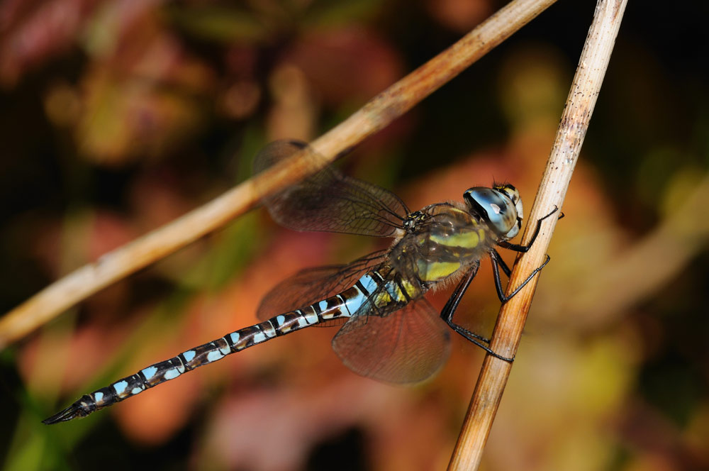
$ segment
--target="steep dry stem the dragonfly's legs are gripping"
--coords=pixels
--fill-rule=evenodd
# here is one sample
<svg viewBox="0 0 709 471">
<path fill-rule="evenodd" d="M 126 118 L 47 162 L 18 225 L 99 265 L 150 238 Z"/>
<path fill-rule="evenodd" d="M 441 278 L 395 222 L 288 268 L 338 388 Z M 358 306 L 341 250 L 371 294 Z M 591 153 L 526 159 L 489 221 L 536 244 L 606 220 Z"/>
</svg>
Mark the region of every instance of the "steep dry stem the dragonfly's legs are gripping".
<svg viewBox="0 0 709 471">
<path fill-rule="evenodd" d="M 569 97 L 566 99 L 554 147 L 532 207 L 530 222 L 548 214 L 554 206 L 562 207 L 593 106 L 601 90 L 626 3 L 627 0 L 599 0 L 596 4 L 593 23 L 581 52 Z M 556 218 L 547 219 L 532 249 L 518 257 L 510 276 L 508 292 L 523 282 L 535 267 L 541 265 L 555 225 Z M 534 227 L 534 223 L 527 224 L 523 236 L 525 243 L 528 242 Z M 537 279 L 535 277 L 513 299 L 503 304 L 500 310 L 491 341 L 491 348 L 500 355 L 515 356 Z M 477 469 L 511 368 L 512 365 L 508 362 L 491 355 L 486 356 L 449 470 Z"/>
</svg>

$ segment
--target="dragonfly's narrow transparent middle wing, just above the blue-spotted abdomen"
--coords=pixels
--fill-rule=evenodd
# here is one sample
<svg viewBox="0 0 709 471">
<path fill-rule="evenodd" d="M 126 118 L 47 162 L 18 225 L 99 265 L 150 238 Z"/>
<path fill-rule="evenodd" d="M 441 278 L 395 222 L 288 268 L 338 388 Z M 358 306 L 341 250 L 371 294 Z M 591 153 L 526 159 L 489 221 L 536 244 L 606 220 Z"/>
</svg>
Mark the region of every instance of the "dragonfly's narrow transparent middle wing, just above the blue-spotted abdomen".
<svg viewBox="0 0 709 471">
<path fill-rule="evenodd" d="M 347 265 L 308 268 L 277 284 L 259 304 L 256 315 L 265 321 L 284 312 L 310 306 L 352 287 L 364 273 L 381 265 L 387 250 L 379 250 Z"/>
</svg>

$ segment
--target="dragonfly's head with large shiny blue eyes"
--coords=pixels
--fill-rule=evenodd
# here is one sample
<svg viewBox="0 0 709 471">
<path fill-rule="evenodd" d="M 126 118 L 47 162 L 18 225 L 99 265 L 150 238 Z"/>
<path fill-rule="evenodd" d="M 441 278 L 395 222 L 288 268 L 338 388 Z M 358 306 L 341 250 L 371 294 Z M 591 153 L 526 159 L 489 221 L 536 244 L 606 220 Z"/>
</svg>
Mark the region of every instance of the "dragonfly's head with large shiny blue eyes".
<svg viewBox="0 0 709 471">
<path fill-rule="evenodd" d="M 473 187 L 463 194 L 473 214 L 481 216 L 502 238 L 511 239 L 522 228 L 522 199 L 520 192 L 509 183 L 492 188 Z"/>
</svg>

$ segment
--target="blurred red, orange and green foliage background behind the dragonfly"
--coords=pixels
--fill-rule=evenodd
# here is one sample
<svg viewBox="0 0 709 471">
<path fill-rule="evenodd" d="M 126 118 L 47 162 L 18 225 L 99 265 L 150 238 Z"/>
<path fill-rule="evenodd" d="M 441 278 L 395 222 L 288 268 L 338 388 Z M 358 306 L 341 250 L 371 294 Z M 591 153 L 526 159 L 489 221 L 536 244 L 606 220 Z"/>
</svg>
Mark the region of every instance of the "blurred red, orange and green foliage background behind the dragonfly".
<svg viewBox="0 0 709 471">
<path fill-rule="evenodd" d="M 484 470 L 709 469 L 709 6 L 629 3 Z M 247 179 L 269 140 L 332 128 L 503 4 L 2 1 L 2 311 Z M 507 180 L 528 211 L 594 5 L 552 6 L 342 167 L 411 209 Z M 40 423 L 382 243 L 258 209 L 87 299 L 0 352 L 3 469 L 445 468 L 482 359 L 457 337 L 417 387 L 357 377 L 334 329 L 306 329 Z M 457 321 L 489 333 L 498 304 L 484 262 Z"/>
</svg>

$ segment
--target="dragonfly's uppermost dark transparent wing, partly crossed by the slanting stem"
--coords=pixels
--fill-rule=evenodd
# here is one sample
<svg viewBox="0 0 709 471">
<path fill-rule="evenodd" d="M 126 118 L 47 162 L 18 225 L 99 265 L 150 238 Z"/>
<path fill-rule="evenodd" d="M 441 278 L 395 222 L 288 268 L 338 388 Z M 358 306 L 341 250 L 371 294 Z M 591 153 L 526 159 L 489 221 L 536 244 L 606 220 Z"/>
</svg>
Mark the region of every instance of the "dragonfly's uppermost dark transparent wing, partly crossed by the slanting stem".
<svg viewBox="0 0 709 471">
<path fill-rule="evenodd" d="M 302 149 L 310 148 L 296 140 L 274 141 L 256 155 L 254 172 L 261 172 Z M 264 199 L 263 203 L 275 221 L 296 231 L 391 237 L 408 214 L 406 205 L 395 194 L 346 177 L 333 167 L 325 167 Z"/>
</svg>

